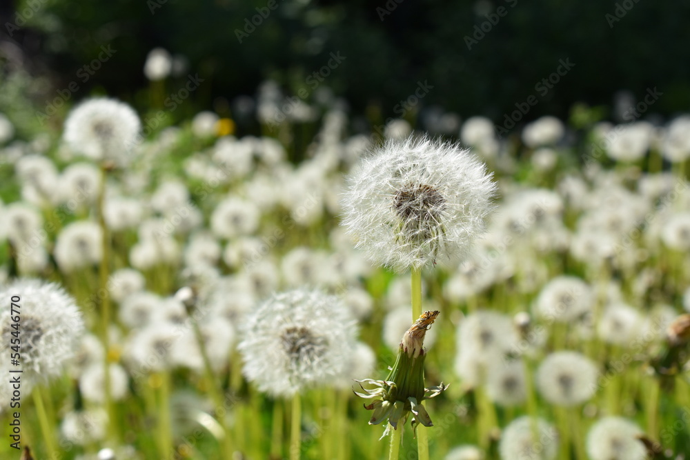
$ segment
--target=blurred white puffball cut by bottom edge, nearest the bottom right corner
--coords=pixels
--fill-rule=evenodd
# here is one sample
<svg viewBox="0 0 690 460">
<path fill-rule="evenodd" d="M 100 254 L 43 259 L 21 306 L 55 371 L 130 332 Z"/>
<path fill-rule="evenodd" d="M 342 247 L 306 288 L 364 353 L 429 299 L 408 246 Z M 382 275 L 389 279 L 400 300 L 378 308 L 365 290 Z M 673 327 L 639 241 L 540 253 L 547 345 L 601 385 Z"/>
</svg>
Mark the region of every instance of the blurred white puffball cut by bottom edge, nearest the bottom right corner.
<svg viewBox="0 0 690 460">
<path fill-rule="evenodd" d="M 636 438 L 642 430 L 622 417 L 604 417 L 587 433 L 587 454 L 592 460 L 644 460 L 647 448 Z"/>
</svg>

